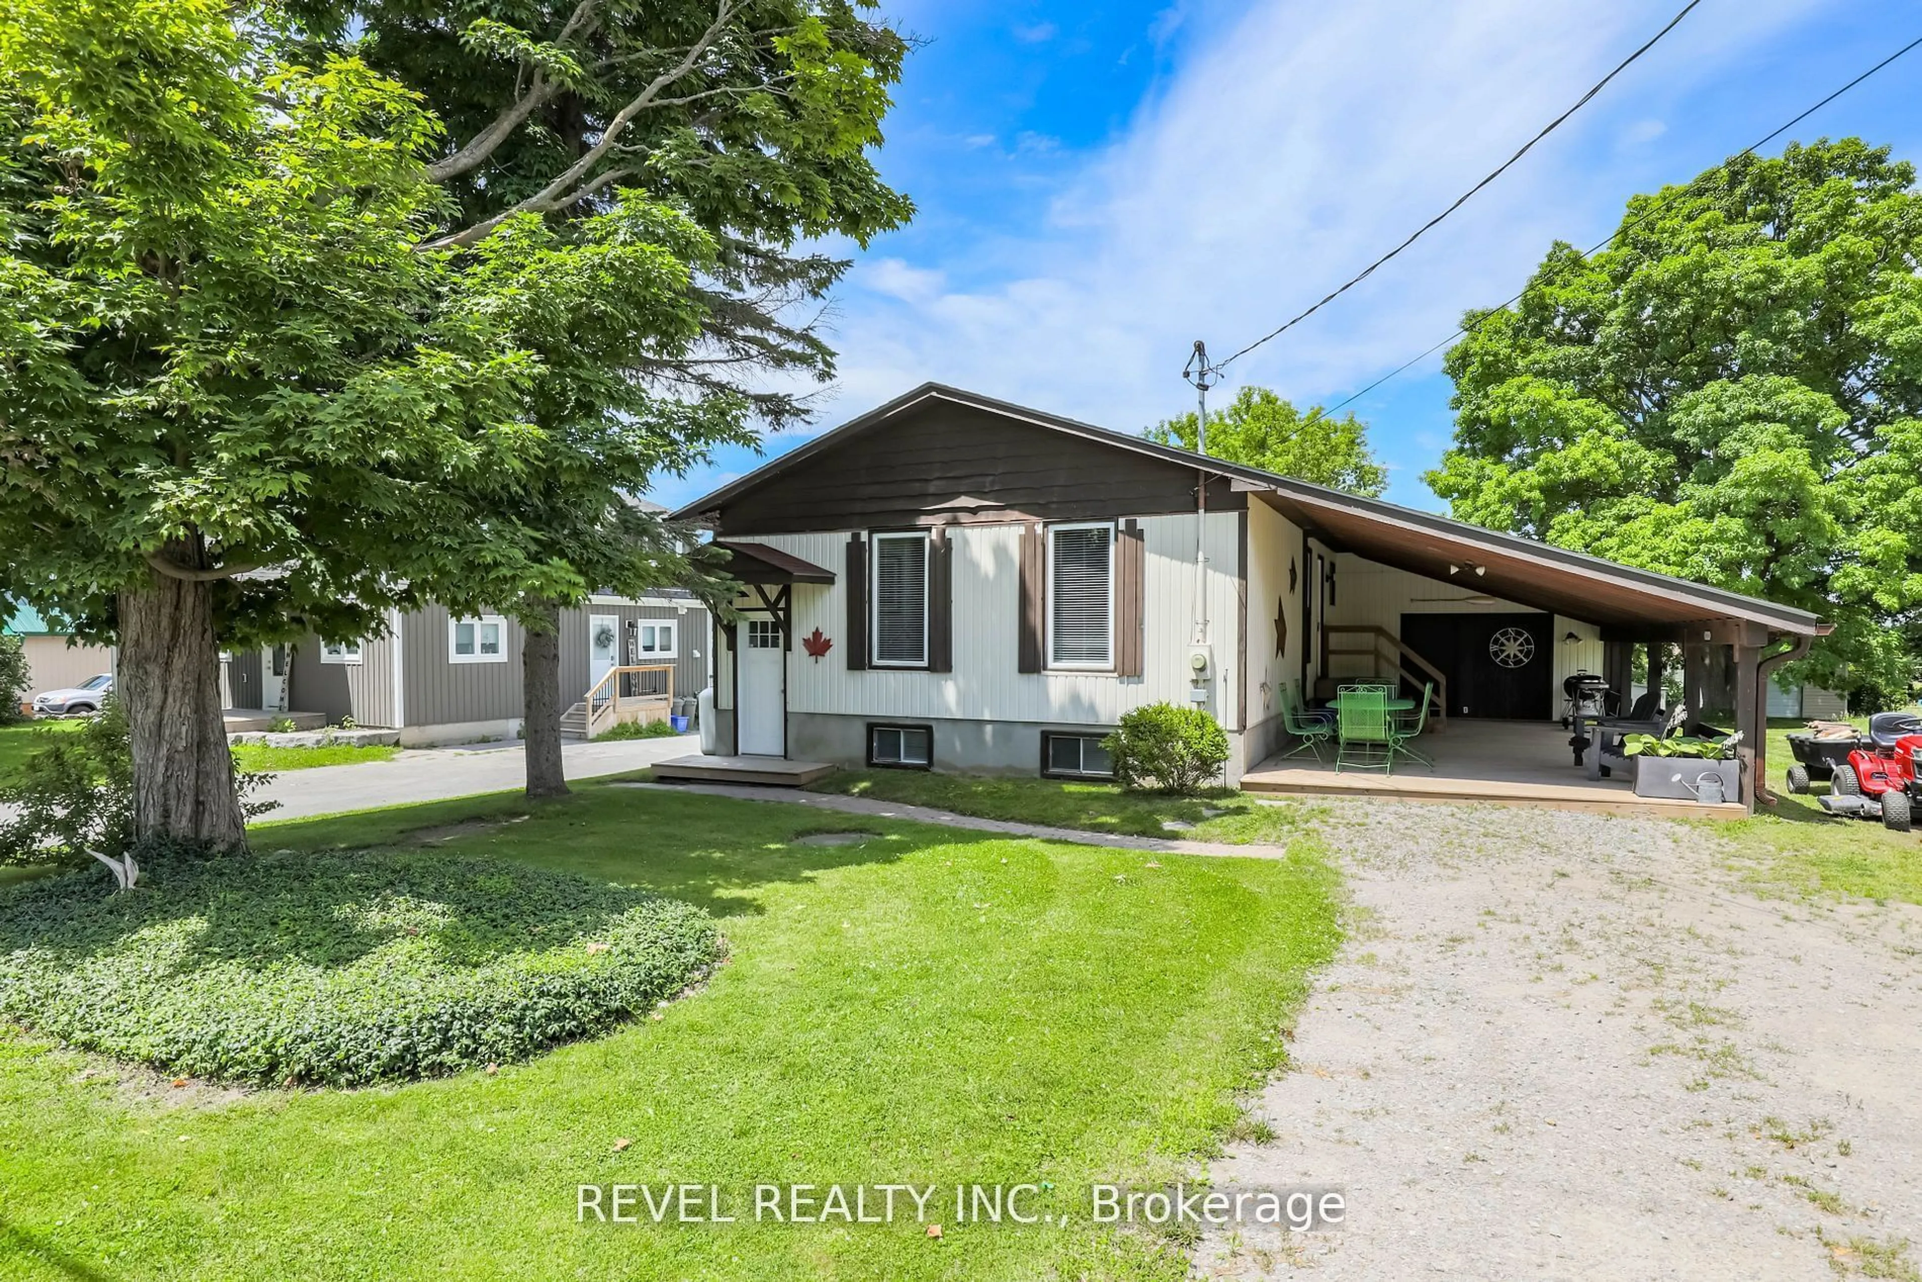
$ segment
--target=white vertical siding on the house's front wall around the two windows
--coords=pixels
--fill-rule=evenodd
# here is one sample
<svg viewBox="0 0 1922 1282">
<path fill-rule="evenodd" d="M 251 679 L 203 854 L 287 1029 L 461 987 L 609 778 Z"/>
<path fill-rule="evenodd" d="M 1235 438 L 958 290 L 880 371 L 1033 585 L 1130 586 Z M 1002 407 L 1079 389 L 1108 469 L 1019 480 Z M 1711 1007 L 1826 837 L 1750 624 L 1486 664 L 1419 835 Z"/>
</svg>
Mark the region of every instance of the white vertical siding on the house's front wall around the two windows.
<svg viewBox="0 0 1922 1282">
<path fill-rule="evenodd" d="M 1207 607 L 1213 680 L 1209 711 L 1238 730 L 1236 659 L 1240 511 L 1207 517 Z M 1021 523 L 953 525 L 953 671 L 848 671 L 846 555 L 853 530 L 757 534 L 755 542 L 836 571 L 834 584 L 794 586 L 796 638 L 821 629 L 836 648 L 788 655 L 788 711 L 886 719 L 971 719 L 1113 727 L 1121 713 L 1167 700 L 1188 703 L 1195 600 L 1195 515 L 1140 517 L 1144 534 L 1142 677 L 1021 673 Z M 717 665 L 727 673 L 728 657 Z M 723 707 L 732 690 L 717 682 Z"/>
</svg>

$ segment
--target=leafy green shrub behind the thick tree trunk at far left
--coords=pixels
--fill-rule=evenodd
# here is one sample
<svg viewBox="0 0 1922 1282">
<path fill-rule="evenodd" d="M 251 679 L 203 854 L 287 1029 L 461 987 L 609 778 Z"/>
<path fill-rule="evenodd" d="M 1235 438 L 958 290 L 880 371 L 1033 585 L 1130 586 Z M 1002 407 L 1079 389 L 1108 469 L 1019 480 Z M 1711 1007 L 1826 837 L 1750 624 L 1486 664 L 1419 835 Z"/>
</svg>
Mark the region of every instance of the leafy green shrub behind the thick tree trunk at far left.
<svg viewBox="0 0 1922 1282">
<path fill-rule="evenodd" d="M 238 757 L 234 773 L 250 821 L 279 805 L 246 800 L 267 775 L 242 771 Z M 15 807 L 0 819 L 0 865 L 85 861 L 88 850 L 123 855 L 133 846 L 133 742 L 121 702 L 108 698 L 71 734 L 46 734 L 46 748 L 0 782 L 0 803 Z"/>
</svg>

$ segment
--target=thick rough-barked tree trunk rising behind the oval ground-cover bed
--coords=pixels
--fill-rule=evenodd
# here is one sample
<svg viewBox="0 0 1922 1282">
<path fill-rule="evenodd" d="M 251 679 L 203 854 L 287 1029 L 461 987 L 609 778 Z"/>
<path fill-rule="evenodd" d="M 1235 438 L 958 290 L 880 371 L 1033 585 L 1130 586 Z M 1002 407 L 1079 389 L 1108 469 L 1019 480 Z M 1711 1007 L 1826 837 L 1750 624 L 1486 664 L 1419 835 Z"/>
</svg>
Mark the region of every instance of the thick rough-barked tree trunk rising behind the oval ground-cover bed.
<svg viewBox="0 0 1922 1282">
<path fill-rule="evenodd" d="M 115 688 L 133 732 L 135 840 L 244 850 L 211 584 L 154 573 L 148 586 L 119 594 Z"/>
</svg>

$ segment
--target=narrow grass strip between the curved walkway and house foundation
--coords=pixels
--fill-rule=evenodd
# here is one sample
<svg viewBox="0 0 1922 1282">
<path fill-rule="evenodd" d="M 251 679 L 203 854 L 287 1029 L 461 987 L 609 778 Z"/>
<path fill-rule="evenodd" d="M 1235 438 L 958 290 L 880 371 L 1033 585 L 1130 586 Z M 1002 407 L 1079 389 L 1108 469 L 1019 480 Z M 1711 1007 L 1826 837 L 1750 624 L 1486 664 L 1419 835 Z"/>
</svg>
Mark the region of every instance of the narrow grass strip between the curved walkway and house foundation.
<svg viewBox="0 0 1922 1282">
<path fill-rule="evenodd" d="M 1082 784 L 1053 778 L 990 778 L 932 771 L 836 771 L 815 792 L 932 805 L 955 815 L 1009 819 L 1055 828 L 1170 836 L 1195 842 L 1286 846 L 1301 834 L 1311 813 L 1301 801 L 1267 803 L 1244 792 L 1203 798 L 1170 798 L 1122 792 L 1115 784 Z M 1169 830 L 1165 821 L 1194 825 Z"/>
</svg>

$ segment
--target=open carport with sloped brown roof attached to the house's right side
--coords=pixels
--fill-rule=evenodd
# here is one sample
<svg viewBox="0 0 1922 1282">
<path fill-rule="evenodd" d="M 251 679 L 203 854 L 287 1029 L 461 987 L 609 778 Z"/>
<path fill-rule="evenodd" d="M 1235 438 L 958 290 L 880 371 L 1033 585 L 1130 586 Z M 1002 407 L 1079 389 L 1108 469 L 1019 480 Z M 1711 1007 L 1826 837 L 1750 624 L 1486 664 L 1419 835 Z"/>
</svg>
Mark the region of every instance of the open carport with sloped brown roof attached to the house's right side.
<svg viewBox="0 0 1922 1282">
<path fill-rule="evenodd" d="M 1720 728 L 1741 732 L 1743 805 L 1774 803 L 1764 782 L 1768 678 L 1830 630 L 1816 615 L 1297 481 L 1244 473 L 1234 488 L 1286 517 L 1292 538 L 1299 530 L 1299 548 L 1286 552 L 1290 565 L 1299 561 L 1303 571 L 1297 577 L 1299 617 L 1307 632 L 1299 673 L 1303 692 L 1342 675 L 1365 675 L 1357 667 L 1363 657 L 1376 671 L 1386 669 L 1382 675 L 1399 675 L 1417 690 L 1434 680 L 1442 673 L 1411 644 L 1409 621 L 1453 617 L 1436 613 L 1436 604 L 1447 611 L 1451 602 L 1459 602 L 1455 609 L 1465 611 L 1459 615 L 1465 619 L 1495 619 L 1495 611 L 1509 609 L 1538 611 L 1534 617 L 1555 621 L 1547 644 L 1566 642 L 1570 653 L 1578 648 L 1582 655 L 1593 655 L 1599 675 L 1624 694 L 1638 648 L 1645 652 L 1645 682 L 1661 688 L 1666 648 L 1678 646 L 1688 725 L 1697 725 L 1705 709 L 1732 709 L 1734 727 Z M 1430 596 L 1411 598 L 1403 588 L 1401 600 L 1424 602 L 1422 609 L 1432 613 L 1403 615 L 1388 592 L 1363 592 L 1367 600 L 1361 602 L 1353 600 L 1357 592 L 1342 596 L 1343 586 L 1368 580 L 1378 569 L 1417 577 L 1397 582 L 1426 584 Z M 1380 582 L 1390 579 L 1378 575 Z M 1430 629 L 1428 636 L 1442 632 L 1445 629 Z M 1520 644 L 1541 644 L 1541 629 L 1524 632 Z M 1559 698 L 1559 690 L 1555 694 Z M 1478 723 L 1447 717 L 1451 703 L 1461 707 L 1457 700 L 1438 696 L 1438 702 L 1434 773 L 1336 773 L 1317 769 L 1313 759 L 1276 755 L 1249 771 L 1244 786 L 1563 805 L 1588 800 L 1605 809 L 1643 801 L 1626 788 L 1626 780 L 1593 780 L 1574 769 L 1568 734 L 1557 736 L 1559 727 L 1541 723 L 1534 702 L 1528 721 Z M 1482 715 L 1515 715 L 1501 711 L 1499 703 L 1491 707 Z"/>
</svg>

